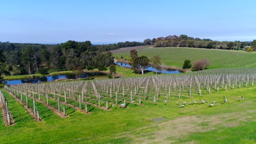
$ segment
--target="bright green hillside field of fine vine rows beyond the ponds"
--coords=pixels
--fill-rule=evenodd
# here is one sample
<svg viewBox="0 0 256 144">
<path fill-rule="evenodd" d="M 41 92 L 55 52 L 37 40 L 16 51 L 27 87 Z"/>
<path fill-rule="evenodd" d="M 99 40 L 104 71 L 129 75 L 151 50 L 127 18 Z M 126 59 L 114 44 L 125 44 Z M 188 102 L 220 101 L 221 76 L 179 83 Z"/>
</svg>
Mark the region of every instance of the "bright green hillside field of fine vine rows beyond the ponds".
<svg viewBox="0 0 256 144">
<path fill-rule="evenodd" d="M 117 51 L 118 52 L 118 51 Z M 130 51 L 114 53 L 114 56 L 120 58 L 130 58 Z M 232 67 L 256 67 L 256 53 L 230 51 L 230 50 L 210 50 L 195 49 L 186 47 L 156 47 L 144 48 L 138 50 L 139 56 L 148 56 L 149 58 L 159 55 L 162 64 L 182 67 L 185 59 L 194 62 L 198 59 L 207 58 L 211 62 L 209 69 L 214 68 L 232 68 Z"/>
</svg>

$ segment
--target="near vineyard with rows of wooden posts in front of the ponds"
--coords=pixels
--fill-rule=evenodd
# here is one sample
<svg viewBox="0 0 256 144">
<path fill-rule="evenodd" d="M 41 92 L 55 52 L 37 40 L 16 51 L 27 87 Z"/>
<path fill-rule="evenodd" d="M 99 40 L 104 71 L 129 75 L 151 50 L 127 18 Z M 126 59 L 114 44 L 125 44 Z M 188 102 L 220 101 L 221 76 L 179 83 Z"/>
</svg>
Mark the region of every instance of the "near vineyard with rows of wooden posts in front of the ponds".
<svg viewBox="0 0 256 144">
<path fill-rule="evenodd" d="M 132 108 L 149 106 L 153 109 L 156 105 L 169 111 L 196 109 L 198 106 L 215 107 L 231 101 L 236 103 L 243 100 L 245 95 L 235 98 L 223 96 L 224 99 L 211 95 L 253 87 L 255 79 L 256 68 L 230 68 L 182 75 L 5 86 L 0 93 L 1 119 L 5 127 L 16 127 L 13 125 L 18 124 L 22 128 L 28 123 L 56 123 L 66 118 L 74 121 L 79 117 L 77 120 L 83 121 L 82 116 L 90 123 L 90 117 L 103 116 L 105 112 L 119 115 L 125 110 L 128 115 L 130 111 L 134 112 Z M 125 113 L 120 116 L 125 117 Z"/>
</svg>

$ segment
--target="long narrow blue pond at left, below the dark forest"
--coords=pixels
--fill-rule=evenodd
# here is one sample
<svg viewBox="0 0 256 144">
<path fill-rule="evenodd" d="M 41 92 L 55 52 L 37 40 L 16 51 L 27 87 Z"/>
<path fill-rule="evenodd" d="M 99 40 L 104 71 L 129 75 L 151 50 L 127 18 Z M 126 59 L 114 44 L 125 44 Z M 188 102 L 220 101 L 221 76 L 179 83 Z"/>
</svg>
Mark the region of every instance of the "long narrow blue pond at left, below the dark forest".
<svg viewBox="0 0 256 144">
<path fill-rule="evenodd" d="M 18 85 L 18 84 L 24 84 L 24 83 L 39 83 L 39 82 L 50 82 L 55 81 L 59 79 L 78 79 L 78 78 L 86 78 L 90 76 L 100 76 L 100 75 L 106 75 L 104 73 L 83 73 L 81 75 L 75 75 L 75 74 L 69 74 L 69 75 L 51 75 L 51 76 L 44 76 L 44 77 L 36 77 L 34 79 L 22 79 L 22 80 L 7 80 L 7 85 Z"/>
</svg>

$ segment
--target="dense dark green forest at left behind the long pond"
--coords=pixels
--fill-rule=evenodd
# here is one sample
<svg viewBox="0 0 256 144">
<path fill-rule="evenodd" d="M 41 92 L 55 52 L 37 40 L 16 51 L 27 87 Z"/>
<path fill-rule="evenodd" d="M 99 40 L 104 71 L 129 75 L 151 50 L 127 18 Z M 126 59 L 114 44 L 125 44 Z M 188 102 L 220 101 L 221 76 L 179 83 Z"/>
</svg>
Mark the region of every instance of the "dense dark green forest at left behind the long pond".
<svg viewBox="0 0 256 144">
<path fill-rule="evenodd" d="M 106 70 L 114 62 L 114 56 L 109 50 L 140 45 L 144 43 L 126 41 L 92 45 L 90 41 L 69 40 L 62 44 L 44 45 L 0 42 L 0 73 L 21 75 L 86 68 Z"/>
</svg>

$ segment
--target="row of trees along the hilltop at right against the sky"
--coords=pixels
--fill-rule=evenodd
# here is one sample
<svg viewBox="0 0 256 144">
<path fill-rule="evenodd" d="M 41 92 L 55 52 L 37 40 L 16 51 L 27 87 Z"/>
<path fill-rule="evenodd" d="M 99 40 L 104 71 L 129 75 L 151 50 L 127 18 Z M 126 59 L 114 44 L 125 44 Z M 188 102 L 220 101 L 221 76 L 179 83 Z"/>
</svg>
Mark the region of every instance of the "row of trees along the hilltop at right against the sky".
<svg viewBox="0 0 256 144">
<path fill-rule="evenodd" d="M 255 44 L 254 44 L 255 43 Z M 256 50 L 256 40 L 254 41 L 213 41 L 211 39 L 200 39 L 188 37 L 182 34 L 168 35 L 154 39 L 145 39 L 144 44 L 155 45 L 156 47 L 197 47 L 206 49 L 223 49 L 223 50 Z M 252 47 L 249 47 L 252 46 Z"/>
</svg>

